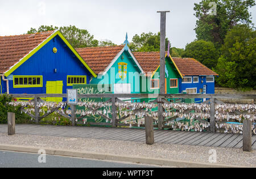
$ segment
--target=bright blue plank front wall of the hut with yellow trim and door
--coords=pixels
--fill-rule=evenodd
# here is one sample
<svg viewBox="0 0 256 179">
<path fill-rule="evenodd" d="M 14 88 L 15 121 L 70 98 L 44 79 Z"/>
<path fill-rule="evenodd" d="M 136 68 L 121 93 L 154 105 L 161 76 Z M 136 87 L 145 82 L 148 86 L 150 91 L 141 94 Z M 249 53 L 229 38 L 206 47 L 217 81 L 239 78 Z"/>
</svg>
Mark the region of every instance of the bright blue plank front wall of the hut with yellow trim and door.
<svg viewBox="0 0 256 179">
<path fill-rule="evenodd" d="M 57 48 L 57 53 L 52 52 L 54 47 Z M 57 73 L 54 72 L 54 69 L 57 69 Z M 67 87 L 67 75 L 86 75 L 87 84 L 91 77 L 90 72 L 58 35 L 27 59 L 11 75 L 43 76 L 43 87 L 13 88 L 13 80 L 9 81 L 10 93 L 28 94 L 46 93 L 47 81 L 63 81 L 63 93 L 66 93 L 67 88 L 72 88 L 72 86 Z M 6 84 L 2 87 L 2 92 L 5 93 L 7 91 Z"/>
</svg>

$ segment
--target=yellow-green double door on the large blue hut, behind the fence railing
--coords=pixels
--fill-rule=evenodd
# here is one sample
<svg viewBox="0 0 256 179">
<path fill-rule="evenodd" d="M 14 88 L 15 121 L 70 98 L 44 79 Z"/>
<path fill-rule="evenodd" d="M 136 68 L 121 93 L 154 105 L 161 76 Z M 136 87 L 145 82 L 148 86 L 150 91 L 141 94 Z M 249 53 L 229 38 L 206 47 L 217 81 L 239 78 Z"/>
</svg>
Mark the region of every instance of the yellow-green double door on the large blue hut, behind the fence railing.
<svg viewBox="0 0 256 179">
<path fill-rule="evenodd" d="M 63 81 L 46 82 L 47 94 L 62 94 L 63 93 Z M 61 102 L 62 97 L 47 97 L 46 101 Z"/>
</svg>

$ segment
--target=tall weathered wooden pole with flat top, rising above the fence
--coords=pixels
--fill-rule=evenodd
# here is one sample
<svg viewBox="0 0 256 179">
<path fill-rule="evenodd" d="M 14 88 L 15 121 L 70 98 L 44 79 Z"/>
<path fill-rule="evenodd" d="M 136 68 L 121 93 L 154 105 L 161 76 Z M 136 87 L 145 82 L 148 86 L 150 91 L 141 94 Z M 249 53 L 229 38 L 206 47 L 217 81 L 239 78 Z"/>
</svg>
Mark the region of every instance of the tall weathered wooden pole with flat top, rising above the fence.
<svg viewBox="0 0 256 179">
<path fill-rule="evenodd" d="M 166 92 L 165 84 L 165 66 L 166 66 L 166 12 L 170 11 L 158 11 L 160 12 L 160 94 L 163 95 Z M 163 129 L 163 106 L 162 99 L 158 99 L 158 129 Z"/>
</svg>

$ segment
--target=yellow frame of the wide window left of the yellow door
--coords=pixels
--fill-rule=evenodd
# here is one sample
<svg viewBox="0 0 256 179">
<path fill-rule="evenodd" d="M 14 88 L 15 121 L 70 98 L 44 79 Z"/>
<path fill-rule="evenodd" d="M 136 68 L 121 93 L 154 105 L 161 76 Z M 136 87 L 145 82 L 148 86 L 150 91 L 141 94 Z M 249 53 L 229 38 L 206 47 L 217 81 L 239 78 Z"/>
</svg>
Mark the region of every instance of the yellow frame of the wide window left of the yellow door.
<svg viewBox="0 0 256 179">
<path fill-rule="evenodd" d="M 23 79 L 23 84 L 18 84 L 15 85 L 15 78 Z M 24 84 L 24 78 L 40 78 L 40 84 L 33 84 L 33 80 L 32 80 L 32 84 Z M 37 81 L 37 80 L 36 80 Z M 27 80 L 28 82 L 28 80 Z M 38 87 L 43 87 L 43 76 L 40 75 L 14 75 L 13 76 L 13 88 L 38 88 Z"/>
</svg>

